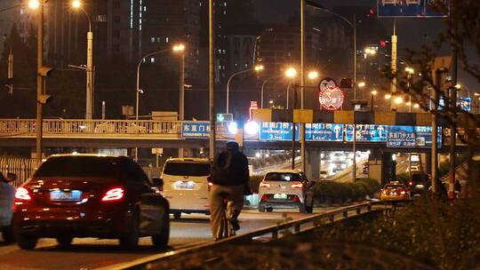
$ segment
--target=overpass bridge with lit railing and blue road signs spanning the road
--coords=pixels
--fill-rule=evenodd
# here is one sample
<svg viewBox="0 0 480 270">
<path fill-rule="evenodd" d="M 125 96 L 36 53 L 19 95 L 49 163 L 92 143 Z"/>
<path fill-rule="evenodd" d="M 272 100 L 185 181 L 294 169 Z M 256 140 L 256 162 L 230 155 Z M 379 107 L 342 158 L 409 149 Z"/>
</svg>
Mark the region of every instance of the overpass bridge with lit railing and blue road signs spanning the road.
<svg viewBox="0 0 480 270">
<path fill-rule="evenodd" d="M 262 122 L 251 133 L 245 132 L 244 147 L 247 150 L 291 149 L 293 123 L 279 120 Z M 330 120 L 332 123 L 306 124 L 307 173 L 312 176 L 313 172 L 314 178 L 319 171 L 321 151 L 352 149 L 352 123 L 356 123 L 357 151 L 371 150 L 372 159 L 381 160 L 382 168 L 392 163 L 392 153 L 430 151 L 431 129 L 428 130 L 428 126 Z M 43 144 L 44 147 L 198 149 L 209 145 L 209 125 L 206 121 L 44 119 Z M 216 124 L 219 147 L 226 140 L 236 139 L 230 125 L 230 122 Z M 299 132 L 296 133 L 298 140 Z M 442 137 L 440 132 L 440 151 Z M 35 143 L 36 119 L 0 119 L 0 147 L 33 149 Z M 388 173 L 387 169 L 382 171 Z"/>
</svg>

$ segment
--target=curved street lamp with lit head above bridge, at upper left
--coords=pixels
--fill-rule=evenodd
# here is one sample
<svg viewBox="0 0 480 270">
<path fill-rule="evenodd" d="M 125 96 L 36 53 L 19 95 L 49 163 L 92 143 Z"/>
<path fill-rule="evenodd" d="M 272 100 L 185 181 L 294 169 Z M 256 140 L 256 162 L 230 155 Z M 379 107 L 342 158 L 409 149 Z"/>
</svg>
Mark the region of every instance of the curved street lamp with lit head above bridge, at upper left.
<svg viewBox="0 0 480 270">
<path fill-rule="evenodd" d="M 87 65 L 86 65 L 86 105 L 85 105 L 85 119 L 92 119 L 93 112 L 93 32 L 92 20 L 82 7 L 82 3 L 78 0 L 72 2 L 74 8 L 84 12 L 88 20 L 87 32 Z"/>
</svg>

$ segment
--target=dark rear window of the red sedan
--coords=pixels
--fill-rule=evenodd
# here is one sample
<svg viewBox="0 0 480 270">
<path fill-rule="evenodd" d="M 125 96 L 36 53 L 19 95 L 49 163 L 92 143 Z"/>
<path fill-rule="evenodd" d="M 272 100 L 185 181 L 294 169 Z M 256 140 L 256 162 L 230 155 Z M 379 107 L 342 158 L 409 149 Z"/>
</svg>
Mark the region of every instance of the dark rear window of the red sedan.
<svg viewBox="0 0 480 270">
<path fill-rule="evenodd" d="M 52 157 L 42 163 L 35 176 L 115 178 L 118 176 L 118 166 L 115 160 L 104 157 Z"/>
</svg>

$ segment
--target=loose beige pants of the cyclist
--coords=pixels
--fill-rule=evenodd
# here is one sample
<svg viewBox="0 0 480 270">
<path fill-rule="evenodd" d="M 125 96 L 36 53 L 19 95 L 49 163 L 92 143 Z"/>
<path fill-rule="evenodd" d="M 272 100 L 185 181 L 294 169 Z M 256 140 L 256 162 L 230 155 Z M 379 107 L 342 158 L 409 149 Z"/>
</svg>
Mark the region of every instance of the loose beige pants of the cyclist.
<svg viewBox="0 0 480 270">
<path fill-rule="evenodd" d="M 229 201 L 227 218 L 231 218 L 232 213 L 235 211 L 240 214 L 244 207 L 244 186 L 219 186 L 213 185 L 210 189 L 210 221 L 212 223 L 212 235 L 213 240 L 217 241 L 222 238 L 222 232 L 224 230 L 221 222 L 223 211 L 223 199 L 222 194 L 227 194 Z"/>
</svg>

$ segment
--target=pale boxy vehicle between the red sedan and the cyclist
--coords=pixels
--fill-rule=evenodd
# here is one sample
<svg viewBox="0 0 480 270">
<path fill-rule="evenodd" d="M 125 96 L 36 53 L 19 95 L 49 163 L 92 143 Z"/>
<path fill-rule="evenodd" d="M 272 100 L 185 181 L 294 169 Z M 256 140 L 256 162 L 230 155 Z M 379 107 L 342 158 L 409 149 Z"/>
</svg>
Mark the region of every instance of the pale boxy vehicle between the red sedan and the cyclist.
<svg viewBox="0 0 480 270">
<path fill-rule="evenodd" d="M 210 214 L 210 161 L 206 158 L 170 158 L 164 164 L 164 196 L 173 217 L 181 213 Z"/>
</svg>

